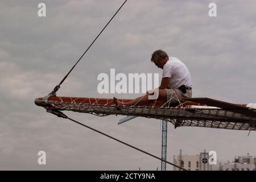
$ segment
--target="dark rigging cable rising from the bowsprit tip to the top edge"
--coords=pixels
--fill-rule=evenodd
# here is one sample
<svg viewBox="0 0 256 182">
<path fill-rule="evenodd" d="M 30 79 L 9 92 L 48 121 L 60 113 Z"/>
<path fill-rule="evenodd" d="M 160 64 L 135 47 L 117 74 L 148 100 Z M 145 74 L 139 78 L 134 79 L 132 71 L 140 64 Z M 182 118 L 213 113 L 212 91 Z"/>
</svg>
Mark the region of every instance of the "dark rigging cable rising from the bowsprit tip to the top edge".
<svg viewBox="0 0 256 182">
<path fill-rule="evenodd" d="M 126 0 L 127 1 L 127 0 Z M 119 7 L 119 9 L 117 10 L 117 12 L 115 12 L 115 14 L 112 16 L 112 18 L 109 20 L 109 22 L 105 25 L 105 27 L 101 30 L 100 34 L 97 35 L 97 37 L 93 40 L 93 42 L 90 44 L 90 46 L 86 49 L 86 51 L 82 54 L 82 56 L 79 58 L 79 60 L 76 62 L 75 65 L 73 65 L 73 67 L 69 70 L 68 74 L 66 76 L 64 76 L 64 78 L 60 81 L 59 85 L 56 85 L 55 88 L 53 89 L 53 91 L 51 92 L 51 94 L 55 94 L 57 90 L 59 90 L 60 85 L 66 80 L 66 78 L 68 77 L 69 73 L 72 72 L 72 70 L 76 67 L 77 63 L 79 63 L 79 61 L 82 59 L 82 57 L 85 55 L 85 53 L 89 50 L 89 48 L 93 45 L 93 43 L 98 39 L 98 37 L 101 35 L 101 33 L 105 30 L 105 28 L 108 26 L 108 24 L 112 21 L 112 19 L 114 18 L 114 16 L 118 13 L 119 10 L 121 10 L 121 8 L 123 7 L 123 5 L 125 5 L 125 2 L 123 2 L 122 6 Z"/>
</svg>

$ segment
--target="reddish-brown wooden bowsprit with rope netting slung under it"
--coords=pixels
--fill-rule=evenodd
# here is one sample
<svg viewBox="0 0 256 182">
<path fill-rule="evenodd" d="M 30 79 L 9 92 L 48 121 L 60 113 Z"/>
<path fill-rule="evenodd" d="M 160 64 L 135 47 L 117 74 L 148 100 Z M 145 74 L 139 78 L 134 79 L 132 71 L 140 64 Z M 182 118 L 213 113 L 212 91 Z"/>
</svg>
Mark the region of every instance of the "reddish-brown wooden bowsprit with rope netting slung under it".
<svg viewBox="0 0 256 182">
<path fill-rule="evenodd" d="M 123 99 L 129 102 L 129 99 Z M 112 98 L 59 97 L 36 98 L 35 104 L 47 110 L 68 110 L 106 115 L 155 118 L 171 122 L 175 127 L 195 126 L 230 130 L 255 130 L 256 111 L 246 104 L 230 104 L 210 98 L 191 98 L 166 106 L 163 101 L 149 106 L 115 106 Z M 125 118 L 125 120 L 130 119 Z M 124 120 L 124 121 L 125 121 Z"/>
</svg>

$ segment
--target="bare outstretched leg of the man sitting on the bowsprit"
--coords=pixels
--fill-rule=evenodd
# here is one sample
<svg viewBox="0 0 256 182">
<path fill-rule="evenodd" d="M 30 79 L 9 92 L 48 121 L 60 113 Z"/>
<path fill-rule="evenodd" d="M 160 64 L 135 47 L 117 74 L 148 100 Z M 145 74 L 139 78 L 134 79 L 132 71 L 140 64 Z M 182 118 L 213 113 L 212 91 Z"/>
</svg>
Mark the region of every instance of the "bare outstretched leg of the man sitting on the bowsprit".
<svg viewBox="0 0 256 182">
<path fill-rule="evenodd" d="M 152 100 L 148 100 L 148 96 L 150 94 L 145 94 L 144 96 L 135 98 L 132 101 L 129 102 L 121 102 L 118 101 L 117 98 L 114 97 L 114 103 L 117 106 L 142 106 L 142 105 L 149 105 Z M 160 100 L 166 100 L 166 90 L 159 89 L 159 96 L 158 99 Z"/>
</svg>

